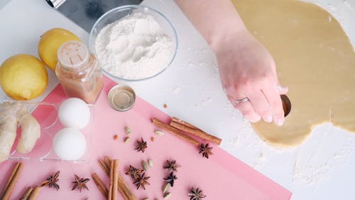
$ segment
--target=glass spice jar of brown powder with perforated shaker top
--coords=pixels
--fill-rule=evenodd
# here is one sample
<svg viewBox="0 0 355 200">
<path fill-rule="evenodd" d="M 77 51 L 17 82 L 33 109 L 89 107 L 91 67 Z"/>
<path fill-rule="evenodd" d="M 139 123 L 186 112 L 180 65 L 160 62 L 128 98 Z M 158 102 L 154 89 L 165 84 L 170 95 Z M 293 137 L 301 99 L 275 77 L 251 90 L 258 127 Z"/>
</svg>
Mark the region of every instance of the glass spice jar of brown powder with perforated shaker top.
<svg viewBox="0 0 355 200">
<path fill-rule="evenodd" d="M 58 50 L 58 65 L 55 68 L 65 94 L 94 104 L 104 86 L 99 61 L 79 41 L 63 43 Z"/>
</svg>

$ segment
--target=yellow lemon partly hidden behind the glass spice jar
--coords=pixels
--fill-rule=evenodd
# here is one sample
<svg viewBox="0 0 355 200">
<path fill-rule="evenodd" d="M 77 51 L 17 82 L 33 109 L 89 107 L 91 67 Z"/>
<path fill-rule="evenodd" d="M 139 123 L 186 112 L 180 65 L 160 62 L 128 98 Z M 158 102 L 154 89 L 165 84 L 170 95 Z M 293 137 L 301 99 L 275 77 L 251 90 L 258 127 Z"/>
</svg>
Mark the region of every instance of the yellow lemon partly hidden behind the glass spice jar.
<svg viewBox="0 0 355 200">
<path fill-rule="evenodd" d="M 38 55 L 40 56 L 40 60 L 42 60 L 48 68 L 55 70 L 58 63 L 58 49 L 67 41 L 80 41 L 80 38 L 63 28 L 52 28 L 43 33 L 38 43 Z"/>
</svg>

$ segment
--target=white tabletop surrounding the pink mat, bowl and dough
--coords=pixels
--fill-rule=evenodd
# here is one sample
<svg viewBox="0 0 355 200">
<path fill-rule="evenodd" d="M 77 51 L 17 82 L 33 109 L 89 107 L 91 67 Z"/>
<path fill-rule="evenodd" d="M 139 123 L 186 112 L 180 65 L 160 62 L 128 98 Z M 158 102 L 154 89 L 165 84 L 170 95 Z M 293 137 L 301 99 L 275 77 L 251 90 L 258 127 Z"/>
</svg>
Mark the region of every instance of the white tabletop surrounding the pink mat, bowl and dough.
<svg viewBox="0 0 355 200">
<path fill-rule="evenodd" d="M 66 28 L 82 41 L 89 34 L 44 0 L 0 3 L 0 63 L 16 53 L 38 56 L 40 35 Z M 318 0 L 339 19 L 355 44 L 355 0 Z M 290 149 L 273 149 L 262 142 L 249 122 L 233 109 L 222 92 L 214 54 L 173 1 L 143 4 L 168 16 L 178 32 L 179 49 L 173 64 L 151 80 L 126 82 L 143 99 L 163 112 L 181 117 L 222 137 L 221 147 L 293 192 L 292 199 L 355 199 L 355 135 L 332 125 L 320 125 L 306 142 Z M 352 24 L 352 25 L 351 25 Z M 50 82 L 42 100 L 58 83 Z M 124 82 L 119 82 L 124 83 Z M 0 89 L 0 100 L 9 99 Z M 163 104 L 168 108 L 164 109 Z M 355 115 L 355 114 L 354 114 Z"/>
</svg>

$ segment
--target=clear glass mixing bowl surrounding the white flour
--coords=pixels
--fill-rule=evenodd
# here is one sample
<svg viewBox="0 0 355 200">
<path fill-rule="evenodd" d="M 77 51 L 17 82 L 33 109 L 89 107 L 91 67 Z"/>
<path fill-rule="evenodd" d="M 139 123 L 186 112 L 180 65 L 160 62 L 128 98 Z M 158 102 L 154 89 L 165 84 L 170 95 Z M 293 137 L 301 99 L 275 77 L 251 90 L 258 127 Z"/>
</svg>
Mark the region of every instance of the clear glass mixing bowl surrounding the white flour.
<svg viewBox="0 0 355 200">
<path fill-rule="evenodd" d="M 95 41 L 97 39 L 97 35 L 100 33 L 102 28 L 109 25 L 110 23 L 118 21 L 119 19 L 123 18 L 124 16 L 134 14 L 136 12 L 140 12 L 143 14 L 148 14 L 148 15 L 153 16 L 155 21 L 157 21 L 159 23 L 160 27 L 163 29 L 163 33 L 165 33 L 166 35 L 168 35 L 171 38 L 171 40 L 173 42 L 173 53 L 171 55 L 170 61 L 168 62 L 168 65 L 166 65 L 165 68 L 162 68 L 158 73 L 155 73 L 154 75 L 151 75 L 146 78 L 126 79 L 126 78 L 122 78 L 122 77 L 113 75 L 113 74 L 109 73 L 108 70 L 105 70 L 104 68 L 102 68 L 102 70 L 105 73 L 107 73 L 108 75 L 111 75 L 113 78 L 118 78 L 121 80 L 146 80 L 148 78 L 153 78 L 154 76 L 159 75 L 166 68 L 168 68 L 168 66 L 173 62 L 176 52 L 178 50 L 178 36 L 176 34 L 175 28 L 173 27 L 173 24 L 170 23 L 169 19 L 166 16 L 164 16 L 162 13 L 160 13 L 159 11 L 156 11 L 155 9 L 151 9 L 147 6 L 141 6 L 141 5 L 119 6 L 115 9 L 111 9 L 110 11 L 107 11 L 106 14 L 101 16 L 96 21 L 96 23 L 94 23 L 94 26 L 92 27 L 92 30 L 90 31 L 89 50 L 97 56 L 97 52 L 96 52 L 96 48 L 95 48 Z M 119 68 L 119 66 L 117 66 L 117 67 Z"/>
</svg>

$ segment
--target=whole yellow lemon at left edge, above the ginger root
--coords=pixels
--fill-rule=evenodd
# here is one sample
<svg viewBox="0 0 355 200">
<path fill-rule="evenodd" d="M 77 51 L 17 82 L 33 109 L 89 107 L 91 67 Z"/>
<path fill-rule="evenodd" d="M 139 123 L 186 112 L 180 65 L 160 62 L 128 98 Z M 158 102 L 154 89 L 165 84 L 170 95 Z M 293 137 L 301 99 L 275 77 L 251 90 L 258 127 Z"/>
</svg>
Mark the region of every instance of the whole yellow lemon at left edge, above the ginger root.
<svg viewBox="0 0 355 200">
<path fill-rule="evenodd" d="M 31 100 L 45 91 L 48 73 L 40 59 L 27 54 L 7 58 L 0 67 L 0 85 L 14 100 Z"/>
</svg>

